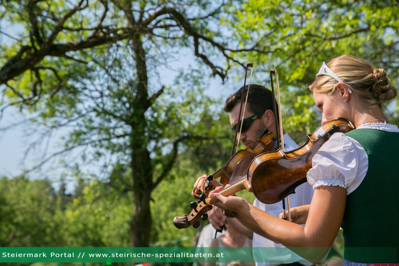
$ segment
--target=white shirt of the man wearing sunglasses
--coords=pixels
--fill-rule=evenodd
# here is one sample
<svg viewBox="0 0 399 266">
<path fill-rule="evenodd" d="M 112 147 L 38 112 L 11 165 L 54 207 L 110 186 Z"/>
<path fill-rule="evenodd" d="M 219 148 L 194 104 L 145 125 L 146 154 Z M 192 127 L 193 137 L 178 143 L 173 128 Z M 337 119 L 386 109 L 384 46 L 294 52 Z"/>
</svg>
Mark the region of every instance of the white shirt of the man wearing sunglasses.
<svg viewBox="0 0 399 266">
<path fill-rule="evenodd" d="M 292 151 L 298 148 L 298 145 L 290 138 L 287 133 L 285 133 L 283 137 L 285 151 Z M 310 204 L 310 202 L 312 201 L 313 189 L 312 186 L 308 183 L 304 183 L 297 187 L 295 189 L 295 192 L 295 194 L 289 195 L 290 208 Z M 264 210 L 265 212 L 276 217 L 279 217 L 280 213 L 282 212 L 282 202 L 277 202 L 275 204 L 264 204 L 258 199 L 255 199 L 253 202 L 253 206 Z M 253 233 L 252 246 L 255 248 L 253 249 L 253 257 L 257 266 L 275 266 L 284 262 L 300 262 L 304 265 L 312 265 L 312 263 L 307 262 L 307 260 L 304 260 L 294 252 L 290 251 L 288 248 L 284 248 L 282 244 L 277 244 L 276 242 L 264 238 L 263 236 L 260 236 L 256 233 Z M 259 251 L 259 249 L 256 249 L 256 247 L 266 248 L 262 249 L 262 254 L 259 254 L 259 252 L 257 252 Z M 257 260 L 271 262 L 256 262 Z"/>
</svg>

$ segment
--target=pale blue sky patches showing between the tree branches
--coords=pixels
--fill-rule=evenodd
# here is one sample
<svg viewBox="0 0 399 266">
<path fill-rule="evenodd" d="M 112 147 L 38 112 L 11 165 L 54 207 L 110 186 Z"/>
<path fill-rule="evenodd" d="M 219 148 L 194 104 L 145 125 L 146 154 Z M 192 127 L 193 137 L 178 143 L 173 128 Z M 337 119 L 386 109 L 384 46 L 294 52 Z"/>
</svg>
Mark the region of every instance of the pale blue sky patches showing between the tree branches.
<svg viewBox="0 0 399 266">
<path fill-rule="evenodd" d="M 22 26 L 10 27 L 10 25 L 2 21 L 2 24 L 0 24 L 0 30 L 10 36 L 17 37 L 18 32 L 22 32 L 24 29 Z M 0 43 L 4 44 L 12 42 L 11 38 L 8 38 L 4 34 L 0 35 Z M 176 75 L 178 74 L 178 71 L 176 70 L 178 68 L 187 69 L 189 65 L 196 66 L 195 56 L 189 49 L 182 50 L 180 55 L 177 57 L 177 60 L 170 63 L 169 69 L 165 67 L 160 68 L 160 83 L 165 86 L 172 85 Z M 242 81 L 237 81 L 237 83 L 234 83 L 234 81 L 230 79 L 227 84 L 223 85 L 220 77 L 209 77 L 210 86 L 205 93 L 216 98 L 227 97 L 227 95 L 233 93 L 235 90 L 241 87 L 243 85 L 241 83 L 243 83 L 243 79 Z M 0 89 L 4 89 L 4 87 L 0 86 Z M 0 128 L 6 127 L 17 121 L 22 121 L 23 119 L 24 116 L 21 115 L 18 110 L 10 107 L 7 109 L 3 119 L 0 121 Z M 40 128 L 34 128 L 34 130 L 36 129 L 40 130 Z M 38 134 L 32 134 L 31 130 L 32 127 L 28 127 L 28 125 L 23 124 L 5 132 L 0 132 L 0 149 L 2 151 L 0 153 L 0 176 L 4 175 L 7 177 L 15 177 L 20 175 L 24 169 L 32 168 L 34 165 L 36 165 L 36 163 L 38 163 L 38 161 L 40 161 L 40 157 L 45 149 L 45 145 L 48 145 L 49 153 L 51 153 L 51 151 L 57 151 L 57 147 L 62 145 L 60 137 L 67 134 L 67 131 L 65 130 L 56 132 L 48 143 L 39 145 L 24 159 L 24 154 L 29 143 L 38 137 Z M 76 152 L 71 153 L 65 159 L 71 160 L 73 157 L 76 157 Z M 97 171 L 95 165 L 86 168 L 92 173 L 96 173 Z M 49 162 L 43 169 L 45 170 L 41 172 L 30 173 L 30 177 L 46 177 L 48 179 L 54 180 L 56 184 L 56 180 L 59 179 L 61 173 L 64 171 L 64 169 L 58 164 L 58 159 Z M 55 187 L 56 186 L 57 185 L 55 185 Z M 71 189 L 73 189 L 73 183 L 69 185 L 69 190 Z"/>
</svg>

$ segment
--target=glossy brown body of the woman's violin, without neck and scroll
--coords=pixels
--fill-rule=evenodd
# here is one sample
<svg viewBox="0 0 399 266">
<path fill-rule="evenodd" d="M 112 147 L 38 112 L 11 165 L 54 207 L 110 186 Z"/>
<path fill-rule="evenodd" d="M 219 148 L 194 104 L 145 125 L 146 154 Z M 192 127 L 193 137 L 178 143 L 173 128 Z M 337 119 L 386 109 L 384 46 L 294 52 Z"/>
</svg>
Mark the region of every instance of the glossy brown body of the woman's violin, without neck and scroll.
<svg viewBox="0 0 399 266">
<path fill-rule="evenodd" d="M 298 149 L 289 152 L 279 149 L 257 156 L 248 168 L 248 180 L 255 197 L 265 204 L 273 204 L 295 193 L 295 188 L 306 182 L 312 159 L 326 143 L 328 135 L 352 129 L 354 126 L 345 119 L 328 121 L 308 134 L 307 141 Z"/>
</svg>

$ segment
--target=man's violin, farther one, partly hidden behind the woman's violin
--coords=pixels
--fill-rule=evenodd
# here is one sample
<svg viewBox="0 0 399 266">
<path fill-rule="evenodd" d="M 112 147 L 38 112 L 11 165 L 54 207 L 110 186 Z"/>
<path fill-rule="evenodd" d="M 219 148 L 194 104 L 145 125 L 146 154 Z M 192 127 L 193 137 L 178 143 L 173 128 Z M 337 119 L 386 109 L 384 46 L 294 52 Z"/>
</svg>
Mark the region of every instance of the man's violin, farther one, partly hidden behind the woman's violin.
<svg viewBox="0 0 399 266">
<path fill-rule="evenodd" d="M 236 183 L 237 181 L 247 177 L 248 167 L 257 155 L 275 150 L 277 150 L 276 135 L 272 132 L 267 132 L 258 139 L 257 143 L 255 143 L 253 147 L 242 149 L 235 153 L 233 157 L 231 157 L 221 169 L 213 173 L 212 176 L 214 179 L 220 177 L 220 183 L 223 186 Z M 196 199 L 199 199 L 201 194 L 204 194 L 207 197 L 209 191 L 212 189 L 213 186 L 209 185 L 209 182 L 205 181 L 202 184 L 202 188 L 194 189 L 191 195 Z"/>
</svg>

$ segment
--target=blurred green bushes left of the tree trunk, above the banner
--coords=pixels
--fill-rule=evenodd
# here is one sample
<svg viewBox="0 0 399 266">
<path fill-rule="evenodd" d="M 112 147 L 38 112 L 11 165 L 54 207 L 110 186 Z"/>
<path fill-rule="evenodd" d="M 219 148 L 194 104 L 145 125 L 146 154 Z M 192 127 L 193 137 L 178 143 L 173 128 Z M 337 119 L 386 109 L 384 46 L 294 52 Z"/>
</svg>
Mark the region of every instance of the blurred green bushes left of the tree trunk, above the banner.
<svg viewBox="0 0 399 266">
<path fill-rule="evenodd" d="M 56 192 L 47 180 L 2 177 L 1 246 L 129 246 L 128 197 L 89 201 L 85 190 L 75 197 Z"/>
</svg>

